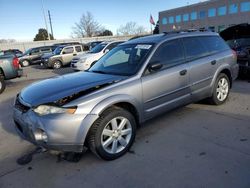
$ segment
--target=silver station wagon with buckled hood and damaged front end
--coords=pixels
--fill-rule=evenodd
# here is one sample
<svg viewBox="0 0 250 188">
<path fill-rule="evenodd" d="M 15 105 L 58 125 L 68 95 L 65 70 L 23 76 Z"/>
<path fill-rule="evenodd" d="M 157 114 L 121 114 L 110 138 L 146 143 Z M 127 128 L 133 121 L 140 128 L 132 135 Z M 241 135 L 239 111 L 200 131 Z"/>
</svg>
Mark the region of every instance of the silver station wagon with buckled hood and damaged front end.
<svg viewBox="0 0 250 188">
<path fill-rule="evenodd" d="M 125 42 L 88 71 L 36 82 L 16 97 L 20 136 L 47 149 L 105 160 L 131 147 L 136 127 L 201 99 L 220 105 L 238 75 L 236 55 L 218 34 L 159 34 Z"/>
</svg>

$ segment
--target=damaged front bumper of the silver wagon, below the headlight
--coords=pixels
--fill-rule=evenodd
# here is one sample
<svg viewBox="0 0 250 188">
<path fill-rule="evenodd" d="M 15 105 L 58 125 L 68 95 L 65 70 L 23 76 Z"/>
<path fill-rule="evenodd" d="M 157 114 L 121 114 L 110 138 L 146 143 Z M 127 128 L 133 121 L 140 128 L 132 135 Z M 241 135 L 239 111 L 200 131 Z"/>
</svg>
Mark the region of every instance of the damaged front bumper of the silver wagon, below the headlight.
<svg viewBox="0 0 250 188">
<path fill-rule="evenodd" d="M 16 105 L 13 114 L 17 133 L 36 146 L 63 152 L 82 152 L 89 127 L 98 118 L 92 114 L 39 116 L 31 108 Z"/>
</svg>

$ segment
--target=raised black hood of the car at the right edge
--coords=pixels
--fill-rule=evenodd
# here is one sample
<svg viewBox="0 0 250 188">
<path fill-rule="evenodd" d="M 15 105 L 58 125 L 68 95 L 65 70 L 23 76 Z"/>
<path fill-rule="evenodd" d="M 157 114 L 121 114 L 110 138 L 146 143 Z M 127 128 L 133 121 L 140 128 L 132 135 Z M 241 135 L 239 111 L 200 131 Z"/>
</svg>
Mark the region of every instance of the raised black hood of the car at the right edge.
<svg viewBox="0 0 250 188">
<path fill-rule="evenodd" d="M 233 40 L 240 38 L 249 38 L 250 37 L 250 24 L 239 24 L 232 27 L 229 27 L 222 32 L 220 36 L 225 40 Z"/>
</svg>

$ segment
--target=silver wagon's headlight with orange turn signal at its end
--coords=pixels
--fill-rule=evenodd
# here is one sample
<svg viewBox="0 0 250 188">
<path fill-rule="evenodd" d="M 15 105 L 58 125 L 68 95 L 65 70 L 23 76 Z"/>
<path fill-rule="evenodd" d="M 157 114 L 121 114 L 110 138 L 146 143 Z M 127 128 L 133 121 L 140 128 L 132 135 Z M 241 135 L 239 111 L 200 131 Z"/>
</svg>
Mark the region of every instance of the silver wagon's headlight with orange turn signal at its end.
<svg viewBox="0 0 250 188">
<path fill-rule="evenodd" d="M 34 112 L 36 112 L 39 115 L 62 114 L 62 113 L 74 114 L 76 109 L 77 107 L 61 108 L 56 106 L 40 105 L 34 109 Z"/>
</svg>

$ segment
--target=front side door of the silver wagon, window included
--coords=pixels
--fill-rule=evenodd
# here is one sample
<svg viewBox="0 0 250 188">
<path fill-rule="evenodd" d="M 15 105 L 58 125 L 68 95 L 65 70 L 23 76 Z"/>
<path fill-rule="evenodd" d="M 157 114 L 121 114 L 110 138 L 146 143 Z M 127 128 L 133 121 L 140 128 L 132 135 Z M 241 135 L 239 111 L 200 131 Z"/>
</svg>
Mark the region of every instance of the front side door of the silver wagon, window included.
<svg viewBox="0 0 250 188">
<path fill-rule="evenodd" d="M 148 67 L 157 64 L 162 65 L 160 70 L 146 70 L 141 79 L 146 119 L 190 102 L 189 67 L 179 39 L 157 48 Z"/>
</svg>

